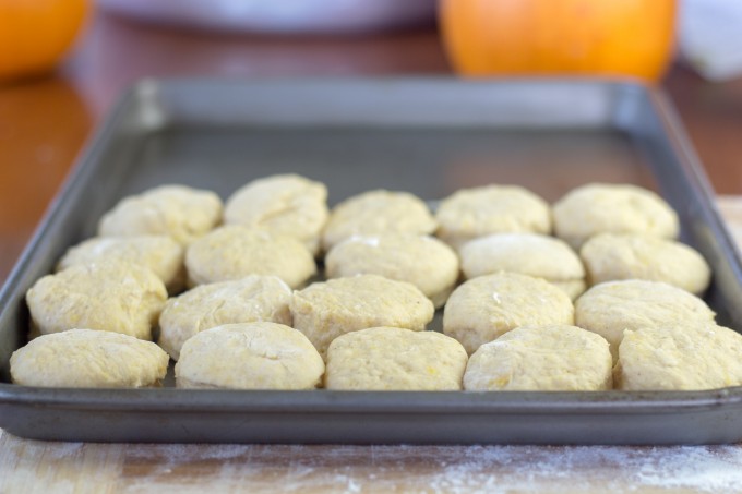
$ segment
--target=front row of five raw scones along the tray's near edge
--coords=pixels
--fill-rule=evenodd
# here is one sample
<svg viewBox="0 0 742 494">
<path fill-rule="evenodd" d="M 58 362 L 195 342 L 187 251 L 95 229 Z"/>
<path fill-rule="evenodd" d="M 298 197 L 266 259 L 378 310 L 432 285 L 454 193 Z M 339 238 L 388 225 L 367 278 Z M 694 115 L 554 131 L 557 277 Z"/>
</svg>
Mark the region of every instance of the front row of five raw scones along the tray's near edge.
<svg viewBox="0 0 742 494">
<path fill-rule="evenodd" d="M 433 332 L 373 327 L 336 338 L 326 363 L 300 332 L 227 324 L 183 346 L 181 388 L 330 390 L 697 390 L 742 383 L 742 337 L 714 324 L 625 332 L 612 368 L 608 342 L 569 325 L 520 326 L 467 357 Z M 45 335 L 11 357 L 14 382 L 53 387 L 152 387 L 167 371 L 156 345 L 109 332 Z"/>
</svg>

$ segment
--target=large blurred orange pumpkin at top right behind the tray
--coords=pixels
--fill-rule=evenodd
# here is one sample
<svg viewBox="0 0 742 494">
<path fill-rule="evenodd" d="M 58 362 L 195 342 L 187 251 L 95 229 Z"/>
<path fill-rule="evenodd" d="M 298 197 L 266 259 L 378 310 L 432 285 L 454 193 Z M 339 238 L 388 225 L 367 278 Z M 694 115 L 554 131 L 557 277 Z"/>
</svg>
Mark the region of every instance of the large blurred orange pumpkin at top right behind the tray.
<svg viewBox="0 0 742 494">
<path fill-rule="evenodd" d="M 441 0 L 464 75 L 627 75 L 657 81 L 673 51 L 675 0 Z"/>
</svg>

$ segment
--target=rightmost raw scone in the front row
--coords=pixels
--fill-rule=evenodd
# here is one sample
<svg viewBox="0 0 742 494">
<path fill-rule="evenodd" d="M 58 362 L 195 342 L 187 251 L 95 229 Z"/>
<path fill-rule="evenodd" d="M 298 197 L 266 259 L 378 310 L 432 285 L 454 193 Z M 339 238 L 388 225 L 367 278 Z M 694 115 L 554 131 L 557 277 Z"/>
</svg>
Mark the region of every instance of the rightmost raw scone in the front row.
<svg viewBox="0 0 742 494">
<path fill-rule="evenodd" d="M 742 385 L 742 335 L 713 323 L 627 329 L 619 347 L 617 387 L 695 390 Z"/>
</svg>

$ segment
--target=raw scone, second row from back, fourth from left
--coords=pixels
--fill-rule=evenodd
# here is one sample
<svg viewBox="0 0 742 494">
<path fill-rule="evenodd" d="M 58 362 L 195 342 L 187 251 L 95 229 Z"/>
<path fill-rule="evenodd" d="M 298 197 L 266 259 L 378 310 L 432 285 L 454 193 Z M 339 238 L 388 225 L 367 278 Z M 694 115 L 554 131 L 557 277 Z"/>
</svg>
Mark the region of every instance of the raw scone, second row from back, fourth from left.
<svg viewBox="0 0 742 494">
<path fill-rule="evenodd" d="M 576 299 L 585 291 L 585 268 L 563 241 L 538 233 L 495 233 L 467 242 L 459 250 L 466 278 L 499 272 L 543 278 Z"/>
</svg>

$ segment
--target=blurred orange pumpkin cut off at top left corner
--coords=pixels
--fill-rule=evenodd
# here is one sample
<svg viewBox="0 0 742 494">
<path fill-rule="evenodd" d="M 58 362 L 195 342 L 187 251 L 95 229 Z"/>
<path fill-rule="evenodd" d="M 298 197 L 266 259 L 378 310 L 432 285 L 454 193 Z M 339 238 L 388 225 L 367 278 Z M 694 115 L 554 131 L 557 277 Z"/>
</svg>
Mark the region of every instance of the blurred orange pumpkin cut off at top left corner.
<svg viewBox="0 0 742 494">
<path fill-rule="evenodd" d="M 51 70 L 87 9 L 87 0 L 0 0 L 0 81 Z"/>
</svg>

